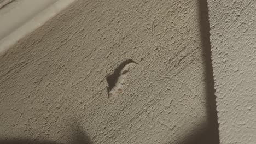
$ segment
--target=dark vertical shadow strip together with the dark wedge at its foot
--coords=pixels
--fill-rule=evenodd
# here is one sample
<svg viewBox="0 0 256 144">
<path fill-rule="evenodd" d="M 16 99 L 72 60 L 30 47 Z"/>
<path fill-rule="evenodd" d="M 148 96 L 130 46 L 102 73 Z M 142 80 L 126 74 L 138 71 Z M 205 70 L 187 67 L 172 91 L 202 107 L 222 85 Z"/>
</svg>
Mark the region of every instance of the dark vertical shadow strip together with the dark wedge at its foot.
<svg viewBox="0 0 256 144">
<path fill-rule="evenodd" d="M 200 33 L 203 61 L 205 62 L 205 92 L 207 102 L 207 125 L 201 129 L 195 129 L 192 133 L 185 136 L 185 139 L 177 143 L 199 144 L 199 143 L 219 143 L 218 118 L 216 110 L 216 96 L 214 89 L 213 68 L 211 61 L 211 43 L 210 43 L 210 23 L 208 16 L 208 5 L 206 0 L 197 1 L 199 4 Z"/>
</svg>

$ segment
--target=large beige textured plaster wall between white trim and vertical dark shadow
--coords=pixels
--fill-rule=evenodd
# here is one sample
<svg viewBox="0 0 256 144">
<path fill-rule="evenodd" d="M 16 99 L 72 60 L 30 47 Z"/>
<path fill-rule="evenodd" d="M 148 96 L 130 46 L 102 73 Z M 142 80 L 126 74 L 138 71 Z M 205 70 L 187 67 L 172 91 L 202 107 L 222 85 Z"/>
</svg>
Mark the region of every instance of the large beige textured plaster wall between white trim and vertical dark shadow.
<svg viewBox="0 0 256 144">
<path fill-rule="evenodd" d="M 73 3 L 0 57 L 0 139 L 218 143 L 200 8 Z M 109 99 L 104 77 L 130 58 L 124 93 Z"/>
</svg>

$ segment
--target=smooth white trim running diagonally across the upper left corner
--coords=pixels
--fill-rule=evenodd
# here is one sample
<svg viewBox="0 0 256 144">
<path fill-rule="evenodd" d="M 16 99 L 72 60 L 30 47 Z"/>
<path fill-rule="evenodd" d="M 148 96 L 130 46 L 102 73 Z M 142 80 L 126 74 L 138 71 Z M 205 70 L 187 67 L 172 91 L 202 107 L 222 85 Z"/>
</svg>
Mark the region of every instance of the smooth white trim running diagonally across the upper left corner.
<svg viewBox="0 0 256 144">
<path fill-rule="evenodd" d="M 19 0 L 0 9 L 0 55 L 75 0 Z"/>
</svg>

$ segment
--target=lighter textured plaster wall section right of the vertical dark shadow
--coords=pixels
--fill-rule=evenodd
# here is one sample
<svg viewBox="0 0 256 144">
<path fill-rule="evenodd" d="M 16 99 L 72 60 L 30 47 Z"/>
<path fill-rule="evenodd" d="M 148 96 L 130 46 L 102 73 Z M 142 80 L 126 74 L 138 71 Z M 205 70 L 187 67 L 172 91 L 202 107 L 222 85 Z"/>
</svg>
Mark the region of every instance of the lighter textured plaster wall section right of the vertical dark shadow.
<svg viewBox="0 0 256 144">
<path fill-rule="evenodd" d="M 220 143 L 255 143 L 256 2 L 208 6 Z"/>
</svg>

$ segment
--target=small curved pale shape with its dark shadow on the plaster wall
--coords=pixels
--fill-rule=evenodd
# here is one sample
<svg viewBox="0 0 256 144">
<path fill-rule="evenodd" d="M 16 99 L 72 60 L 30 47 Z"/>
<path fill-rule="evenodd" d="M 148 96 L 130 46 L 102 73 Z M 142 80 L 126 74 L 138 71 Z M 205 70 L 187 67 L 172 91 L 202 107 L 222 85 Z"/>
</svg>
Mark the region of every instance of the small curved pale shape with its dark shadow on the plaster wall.
<svg viewBox="0 0 256 144">
<path fill-rule="evenodd" d="M 132 59 L 122 62 L 115 70 L 114 73 L 108 75 L 106 80 L 108 83 L 107 91 L 108 97 L 118 95 L 123 92 L 124 79 L 127 76 L 130 68 L 137 63 Z"/>
</svg>

